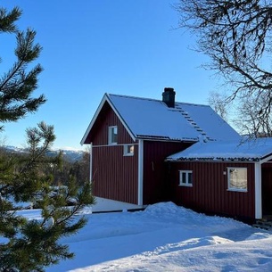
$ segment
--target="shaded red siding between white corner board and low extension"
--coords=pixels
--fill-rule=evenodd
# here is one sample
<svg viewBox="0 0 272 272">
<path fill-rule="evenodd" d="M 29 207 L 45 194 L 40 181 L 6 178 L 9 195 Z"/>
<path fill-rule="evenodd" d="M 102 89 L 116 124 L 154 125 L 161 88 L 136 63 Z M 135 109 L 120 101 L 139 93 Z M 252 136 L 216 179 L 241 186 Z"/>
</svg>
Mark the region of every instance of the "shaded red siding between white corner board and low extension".
<svg viewBox="0 0 272 272">
<path fill-rule="evenodd" d="M 144 141 L 144 204 L 169 200 L 169 169 L 164 161 L 170 154 L 180 152 L 190 145 Z"/>
</svg>

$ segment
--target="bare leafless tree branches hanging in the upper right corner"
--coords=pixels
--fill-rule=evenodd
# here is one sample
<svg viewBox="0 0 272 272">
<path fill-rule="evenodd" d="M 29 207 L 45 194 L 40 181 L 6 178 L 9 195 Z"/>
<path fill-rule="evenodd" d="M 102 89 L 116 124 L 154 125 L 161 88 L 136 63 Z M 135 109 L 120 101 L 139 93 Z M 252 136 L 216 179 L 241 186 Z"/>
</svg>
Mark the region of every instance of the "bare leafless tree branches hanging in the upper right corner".
<svg viewBox="0 0 272 272">
<path fill-rule="evenodd" d="M 197 49 L 210 56 L 207 67 L 231 88 L 230 101 L 253 103 L 254 133 L 262 134 L 271 125 L 272 1 L 179 0 L 175 8 L 179 26 L 192 30 Z"/>
</svg>

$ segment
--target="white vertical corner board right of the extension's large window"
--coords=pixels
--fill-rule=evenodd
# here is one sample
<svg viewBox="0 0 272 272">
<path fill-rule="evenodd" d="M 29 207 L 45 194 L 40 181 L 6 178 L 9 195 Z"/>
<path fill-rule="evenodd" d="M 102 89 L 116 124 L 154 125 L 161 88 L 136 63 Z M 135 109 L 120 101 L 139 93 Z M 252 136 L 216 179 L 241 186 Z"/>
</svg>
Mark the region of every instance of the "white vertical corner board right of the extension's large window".
<svg viewBox="0 0 272 272">
<path fill-rule="evenodd" d="M 255 219 L 262 218 L 262 204 L 261 204 L 261 163 L 260 161 L 254 163 L 255 167 Z"/>
</svg>

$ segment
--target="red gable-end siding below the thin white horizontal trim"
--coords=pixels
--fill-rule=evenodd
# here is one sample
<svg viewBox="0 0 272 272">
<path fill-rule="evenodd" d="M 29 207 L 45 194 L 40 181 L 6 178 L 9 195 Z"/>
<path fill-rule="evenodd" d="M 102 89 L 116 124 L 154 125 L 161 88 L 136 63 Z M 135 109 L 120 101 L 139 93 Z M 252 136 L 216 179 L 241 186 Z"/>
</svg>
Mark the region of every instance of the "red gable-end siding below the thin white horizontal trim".
<svg viewBox="0 0 272 272">
<path fill-rule="evenodd" d="M 137 146 L 134 156 L 123 156 L 123 146 L 93 148 L 93 191 L 95 196 L 137 203 Z"/>
</svg>

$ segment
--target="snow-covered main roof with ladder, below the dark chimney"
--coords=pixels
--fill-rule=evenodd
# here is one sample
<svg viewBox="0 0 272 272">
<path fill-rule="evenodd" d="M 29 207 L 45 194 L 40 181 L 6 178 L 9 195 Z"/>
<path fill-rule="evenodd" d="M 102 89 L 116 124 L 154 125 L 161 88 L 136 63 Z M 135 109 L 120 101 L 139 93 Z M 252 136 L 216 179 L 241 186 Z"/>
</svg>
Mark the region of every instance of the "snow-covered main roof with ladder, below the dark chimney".
<svg viewBox="0 0 272 272">
<path fill-rule="evenodd" d="M 107 95 L 120 118 L 136 137 L 169 140 L 224 140 L 239 137 L 210 106 L 175 103 L 169 108 L 161 100 Z"/>
</svg>

